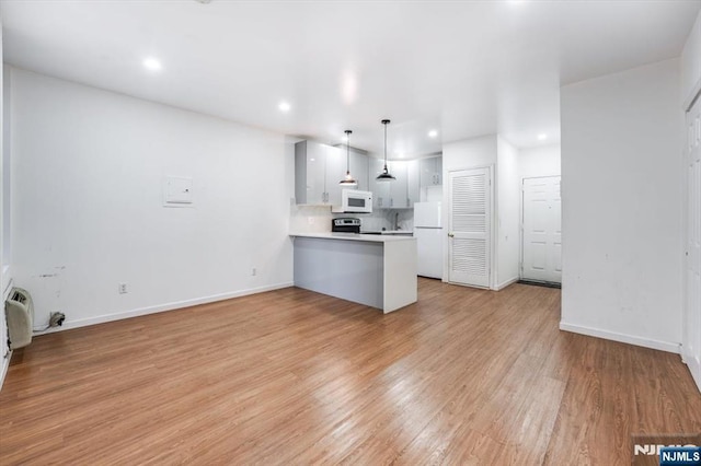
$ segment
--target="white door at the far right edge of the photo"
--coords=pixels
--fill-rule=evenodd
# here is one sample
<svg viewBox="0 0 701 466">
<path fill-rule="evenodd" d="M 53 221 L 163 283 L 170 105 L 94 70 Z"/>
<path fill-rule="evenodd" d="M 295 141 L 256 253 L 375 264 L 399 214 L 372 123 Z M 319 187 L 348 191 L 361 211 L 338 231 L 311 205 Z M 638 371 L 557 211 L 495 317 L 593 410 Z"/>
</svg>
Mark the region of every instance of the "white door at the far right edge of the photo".
<svg viewBox="0 0 701 466">
<path fill-rule="evenodd" d="M 687 113 L 687 303 L 683 356 L 701 389 L 701 96 Z"/>
</svg>

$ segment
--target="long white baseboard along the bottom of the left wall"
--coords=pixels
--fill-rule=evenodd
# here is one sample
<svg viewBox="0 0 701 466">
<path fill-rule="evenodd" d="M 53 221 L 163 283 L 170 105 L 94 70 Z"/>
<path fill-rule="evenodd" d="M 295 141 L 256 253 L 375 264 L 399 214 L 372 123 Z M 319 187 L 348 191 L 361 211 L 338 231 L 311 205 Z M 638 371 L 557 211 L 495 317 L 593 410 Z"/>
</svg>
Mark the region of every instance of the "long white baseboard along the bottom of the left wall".
<svg viewBox="0 0 701 466">
<path fill-rule="evenodd" d="M 183 307 L 195 306 L 198 304 L 214 303 L 216 301 L 230 300 L 232 298 L 245 296 L 249 294 L 263 293 L 265 291 L 279 290 L 281 288 L 292 287 L 295 283 L 289 281 L 285 283 L 269 284 L 265 287 L 251 288 L 248 290 L 232 291 L 229 293 L 212 294 L 211 296 L 195 298 L 193 300 L 176 301 L 172 303 L 158 304 L 154 306 L 140 307 L 131 311 L 124 311 L 114 314 L 103 314 L 95 317 L 81 318 L 77 321 L 66 321 L 62 326 L 49 328 L 45 331 L 35 330 L 34 335 L 46 335 L 55 331 L 68 330 L 71 328 L 87 327 L 89 325 L 104 324 L 105 322 L 120 321 L 123 318 L 138 317 L 141 315 L 156 314 L 159 312 L 173 311 Z"/>
</svg>

